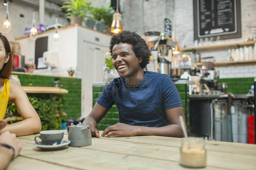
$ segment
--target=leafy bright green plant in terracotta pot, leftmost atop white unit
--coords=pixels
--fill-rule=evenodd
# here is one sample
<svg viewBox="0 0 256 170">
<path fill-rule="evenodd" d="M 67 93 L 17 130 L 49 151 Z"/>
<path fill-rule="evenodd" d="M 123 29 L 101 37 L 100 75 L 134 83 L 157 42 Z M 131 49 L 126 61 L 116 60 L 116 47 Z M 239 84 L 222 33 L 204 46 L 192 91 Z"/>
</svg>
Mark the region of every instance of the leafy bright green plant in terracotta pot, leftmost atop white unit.
<svg viewBox="0 0 256 170">
<path fill-rule="evenodd" d="M 70 0 L 64 2 L 62 9 L 66 9 L 65 17 L 70 19 L 71 24 L 82 24 L 82 20 L 86 17 L 91 3 L 86 0 Z"/>
</svg>

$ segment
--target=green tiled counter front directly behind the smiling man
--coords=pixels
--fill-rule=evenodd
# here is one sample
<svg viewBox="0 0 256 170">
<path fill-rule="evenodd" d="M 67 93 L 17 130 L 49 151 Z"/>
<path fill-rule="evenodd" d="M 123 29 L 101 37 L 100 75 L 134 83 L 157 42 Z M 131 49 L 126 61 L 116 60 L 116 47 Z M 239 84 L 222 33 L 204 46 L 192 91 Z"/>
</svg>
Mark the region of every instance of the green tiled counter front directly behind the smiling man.
<svg viewBox="0 0 256 170">
<path fill-rule="evenodd" d="M 181 96 L 181 101 L 183 104 L 183 111 L 185 114 L 185 111 L 187 111 L 187 128 L 188 128 L 188 135 L 189 135 L 189 94 L 187 91 L 187 106 L 185 107 L 185 84 L 182 85 L 176 85 L 179 95 Z M 99 98 L 100 94 L 102 93 L 105 86 L 93 86 L 93 106 L 96 103 L 97 99 Z M 188 89 L 188 86 L 187 86 Z M 114 125 L 119 122 L 119 115 L 118 115 L 118 109 L 116 105 L 114 104 L 107 114 L 102 118 L 102 120 L 98 123 L 97 129 L 100 131 L 105 130 L 108 126 Z"/>
</svg>

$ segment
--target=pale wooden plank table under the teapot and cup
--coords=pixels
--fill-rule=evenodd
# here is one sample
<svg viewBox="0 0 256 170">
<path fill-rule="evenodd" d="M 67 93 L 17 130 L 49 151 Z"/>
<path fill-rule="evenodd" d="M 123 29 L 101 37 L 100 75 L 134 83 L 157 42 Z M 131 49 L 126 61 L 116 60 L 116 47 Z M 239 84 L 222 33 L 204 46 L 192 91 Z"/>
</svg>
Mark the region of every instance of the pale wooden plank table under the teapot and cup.
<svg viewBox="0 0 256 170">
<path fill-rule="evenodd" d="M 100 132 L 101 134 L 101 132 Z M 36 135 L 19 137 L 23 148 L 8 170 L 37 169 L 187 169 L 179 165 L 180 138 L 162 136 L 92 138 L 86 147 L 41 150 Z M 64 139 L 68 139 L 64 130 Z M 256 169 L 256 145 L 206 141 L 207 166 L 202 169 Z"/>
</svg>

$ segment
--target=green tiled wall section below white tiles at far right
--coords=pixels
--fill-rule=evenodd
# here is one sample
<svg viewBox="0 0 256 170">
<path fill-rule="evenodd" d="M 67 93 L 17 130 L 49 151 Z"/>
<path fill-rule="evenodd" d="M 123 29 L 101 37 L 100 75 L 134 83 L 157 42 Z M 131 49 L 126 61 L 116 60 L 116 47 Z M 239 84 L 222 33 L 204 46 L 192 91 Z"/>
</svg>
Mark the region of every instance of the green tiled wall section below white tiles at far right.
<svg viewBox="0 0 256 170">
<path fill-rule="evenodd" d="M 254 77 L 219 79 L 219 83 L 227 83 L 227 93 L 247 94 L 251 90 Z"/>
</svg>

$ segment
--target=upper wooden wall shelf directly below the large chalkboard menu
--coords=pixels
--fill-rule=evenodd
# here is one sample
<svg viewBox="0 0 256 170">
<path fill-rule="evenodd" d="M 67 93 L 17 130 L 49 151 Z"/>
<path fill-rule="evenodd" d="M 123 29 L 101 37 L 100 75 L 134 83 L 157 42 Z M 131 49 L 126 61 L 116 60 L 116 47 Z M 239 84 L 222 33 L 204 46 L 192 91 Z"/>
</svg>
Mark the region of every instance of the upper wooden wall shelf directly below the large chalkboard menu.
<svg viewBox="0 0 256 170">
<path fill-rule="evenodd" d="M 256 41 L 247 41 L 240 43 L 231 43 L 231 44 L 219 44 L 219 45 L 209 45 L 209 46 L 201 46 L 201 47 L 185 47 L 180 48 L 180 51 L 196 51 L 196 50 L 208 50 L 208 49 L 218 49 L 218 48 L 226 48 L 226 47 L 241 47 L 245 45 L 254 45 Z"/>
</svg>

